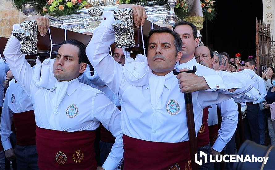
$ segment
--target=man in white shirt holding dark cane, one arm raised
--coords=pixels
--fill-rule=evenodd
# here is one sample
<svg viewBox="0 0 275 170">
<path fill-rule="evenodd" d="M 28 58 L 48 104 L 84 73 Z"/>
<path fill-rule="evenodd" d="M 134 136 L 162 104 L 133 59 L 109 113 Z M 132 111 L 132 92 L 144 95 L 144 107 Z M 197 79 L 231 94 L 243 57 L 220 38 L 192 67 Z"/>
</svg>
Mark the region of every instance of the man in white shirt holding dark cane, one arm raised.
<svg viewBox="0 0 275 170">
<path fill-rule="evenodd" d="M 131 4 L 119 6 L 119 8 L 124 7 L 133 8 L 136 26 L 143 24 L 146 14 L 142 6 Z M 182 92 L 195 91 L 192 97 L 196 132 L 198 132 L 202 122 L 202 109 L 231 98 L 218 91 L 198 91 L 209 89 L 209 86 L 212 86 L 212 90 L 217 90 L 213 89 L 214 87 L 226 88 L 221 83 L 221 77 L 216 73 L 217 76 L 214 75 L 212 78 L 221 81 L 209 85 L 205 81 L 206 77 L 182 73 L 183 80 L 188 81 L 182 79 L 178 81 L 172 70 L 176 62 L 182 58 L 182 40 L 176 32 L 161 28 L 149 34 L 147 59 L 150 69 L 148 71 L 152 73 L 149 81 L 145 81 L 142 86 L 129 82 L 124 72 L 127 63 L 122 68 L 109 55 L 108 46 L 115 40 L 111 26 L 114 21 L 113 14 L 104 11 L 103 17 L 104 20 L 94 30 L 86 53 L 99 77 L 121 101 L 124 168 L 190 168 L 184 94 L 180 93 L 177 83 L 180 83 Z M 247 77 L 242 87 L 236 85 L 231 87 L 230 91 L 224 89 L 226 91 L 224 93 L 242 96 L 242 93 L 252 88 L 252 80 Z"/>
</svg>

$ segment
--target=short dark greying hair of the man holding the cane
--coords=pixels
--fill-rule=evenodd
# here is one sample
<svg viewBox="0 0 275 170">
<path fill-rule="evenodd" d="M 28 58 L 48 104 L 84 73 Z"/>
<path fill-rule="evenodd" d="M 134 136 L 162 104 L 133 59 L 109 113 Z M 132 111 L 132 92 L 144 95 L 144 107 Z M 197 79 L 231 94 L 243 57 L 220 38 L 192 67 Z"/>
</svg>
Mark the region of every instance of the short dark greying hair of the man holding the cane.
<svg viewBox="0 0 275 170">
<path fill-rule="evenodd" d="M 148 42 L 147 42 L 147 47 L 149 45 L 149 40 L 150 40 L 150 37 L 154 34 L 154 33 L 169 33 L 171 34 L 173 37 L 174 37 L 174 45 L 176 47 L 176 54 L 178 52 L 181 51 L 181 48 L 182 48 L 182 40 L 180 38 L 180 35 L 178 33 L 176 33 L 175 31 L 169 29 L 169 28 L 166 28 L 166 27 L 162 27 L 162 28 L 155 28 L 155 29 L 152 29 L 149 33 L 149 36 L 148 36 Z"/>
</svg>

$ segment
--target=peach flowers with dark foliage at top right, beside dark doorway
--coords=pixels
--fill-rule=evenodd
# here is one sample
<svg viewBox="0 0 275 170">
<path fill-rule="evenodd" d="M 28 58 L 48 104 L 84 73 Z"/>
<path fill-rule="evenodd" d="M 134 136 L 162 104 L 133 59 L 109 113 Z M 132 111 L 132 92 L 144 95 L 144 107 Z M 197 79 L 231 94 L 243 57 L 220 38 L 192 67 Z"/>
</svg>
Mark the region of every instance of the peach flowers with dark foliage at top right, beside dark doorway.
<svg viewBox="0 0 275 170">
<path fill-rule="evenodd" d="M 204 20 L 212 21 L 217 14 L 213 0 L 201 0 L 201 8 Z"/>
</svg>

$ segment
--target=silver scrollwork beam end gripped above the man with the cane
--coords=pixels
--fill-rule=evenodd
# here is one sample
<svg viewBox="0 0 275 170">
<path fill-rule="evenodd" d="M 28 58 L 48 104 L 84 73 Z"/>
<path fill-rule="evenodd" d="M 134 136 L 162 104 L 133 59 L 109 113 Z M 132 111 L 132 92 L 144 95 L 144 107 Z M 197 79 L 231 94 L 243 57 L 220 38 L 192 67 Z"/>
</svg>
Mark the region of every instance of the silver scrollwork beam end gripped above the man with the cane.
<svg viewBox="0 0 275 170">
<path fill-rule="evenodd" d="M 112 28 L 115 31 L 116 48 L 133 47 L 135 45 L 133 9 L 116 9 L 114 10 L 114 18 L 115 22 L 112 23 Z"/>
</svg>

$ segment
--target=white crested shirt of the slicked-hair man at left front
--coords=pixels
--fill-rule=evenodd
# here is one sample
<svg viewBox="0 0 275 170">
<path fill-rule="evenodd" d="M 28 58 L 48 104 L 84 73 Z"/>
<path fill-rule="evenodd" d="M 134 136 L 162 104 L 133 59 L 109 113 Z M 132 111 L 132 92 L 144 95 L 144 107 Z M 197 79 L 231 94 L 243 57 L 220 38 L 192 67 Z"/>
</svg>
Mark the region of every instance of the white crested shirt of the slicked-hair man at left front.
<svg viewBox="0 0 275 170">
<path fill-rule="evenodd" d="M 14 30 L 18 28 L 20 26 L 15 24 Z M 11 36 L 4 55 L 15 79 L 32 100 L 36 125 L 45 129 L 75 132 L 96 130 L 101 122 L 116 138 L 103 168 L 116 169 L 123 157 L 123 142 L 119 125 L 121 114 L 115 104 L 103 92 L 80 83 L 78 78 L 69 82 L 57 81 L 53 89 L 36 87 L 32 81 L 32 67 L 21 55 L 20 46 L 20 41 Z M 77 107 L 74 115 L 69 113 L 72 104 Z"/>
</svg>

